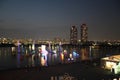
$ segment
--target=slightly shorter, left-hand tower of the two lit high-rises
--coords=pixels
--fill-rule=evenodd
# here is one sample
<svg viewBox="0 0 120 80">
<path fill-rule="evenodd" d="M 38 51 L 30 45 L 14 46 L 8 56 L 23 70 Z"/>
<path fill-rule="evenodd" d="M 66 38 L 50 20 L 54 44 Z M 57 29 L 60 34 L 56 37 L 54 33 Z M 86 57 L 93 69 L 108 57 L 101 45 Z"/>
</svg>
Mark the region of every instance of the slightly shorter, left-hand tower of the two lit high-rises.
<svg viewBox="0 0 120 80">
<path fill-rule="evenodd" d="M 70 44 L 77 44 L 78 31 L 76 26 L 72 26 L 70 29 Z"/>
</svg>

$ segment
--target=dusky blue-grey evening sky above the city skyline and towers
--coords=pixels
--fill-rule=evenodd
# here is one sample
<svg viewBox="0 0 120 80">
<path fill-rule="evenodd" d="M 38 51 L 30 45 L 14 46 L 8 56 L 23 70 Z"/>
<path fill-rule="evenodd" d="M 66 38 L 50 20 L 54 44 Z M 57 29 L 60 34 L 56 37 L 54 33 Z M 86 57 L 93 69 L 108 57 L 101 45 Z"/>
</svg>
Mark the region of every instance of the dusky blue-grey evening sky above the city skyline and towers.
<svg viewBox="0 0 120 80">
<path fill-rule="evenodd" d="M 69 39 L 82 23 L 88 40 L 120 40 L 120 1 L 0 0 L 0 37 Z"/>
</svg>

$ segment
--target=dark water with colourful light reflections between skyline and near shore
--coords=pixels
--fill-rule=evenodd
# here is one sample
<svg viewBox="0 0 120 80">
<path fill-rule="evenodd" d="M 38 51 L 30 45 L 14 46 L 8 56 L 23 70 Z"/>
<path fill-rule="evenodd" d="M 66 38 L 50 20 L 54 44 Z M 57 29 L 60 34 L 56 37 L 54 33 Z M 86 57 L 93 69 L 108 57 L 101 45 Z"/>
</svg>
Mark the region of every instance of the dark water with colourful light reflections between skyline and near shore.
<svg viewBox="0 0 120 80">
<path fill-rule="evenodd" d="M 0 70 L 9 69 L 9 68 L 20 68 L 26 66 L 42 66 L 47 62 L 47 65 L 55 65 L 59 63 L 65 63 L 70 58 L 69 54 L 74 51 L 79 54 L 78 57 L 73 57 L 75 61 L 94 59 L 105 57 L 107 55 L 119 54 L 120 49 L 93 49 L 91 47 L 61 47 L 60 51 L 59 46 L 53 47 L 47 55 L 47 61 L 44 60 L 44 56 L 40 54 L 40 47 L 35 47 L 35 51 L 32 50 L 32 47 L 21 46 L 21 47 L 0 47 Z M 55 52 L 52 50 L 55 50 Z M 65 52 L 64 52 L 65 51 Z M 64 54 L 64 58 L 62 58 Z M 43 62 L 41 62 L 43 61 Z M 41 64 L 43 63 L 43 64 Z"/>
</svg>

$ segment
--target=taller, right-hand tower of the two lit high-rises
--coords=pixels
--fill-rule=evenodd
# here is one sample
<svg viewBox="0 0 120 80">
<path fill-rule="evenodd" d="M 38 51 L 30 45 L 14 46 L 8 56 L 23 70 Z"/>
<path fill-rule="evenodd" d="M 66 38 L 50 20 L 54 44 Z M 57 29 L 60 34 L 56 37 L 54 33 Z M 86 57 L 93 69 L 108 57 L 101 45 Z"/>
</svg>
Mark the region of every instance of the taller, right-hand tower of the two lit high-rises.
<svg viewBox="0 0 120 80">
<path fill-rule="evenodd" d="M 86 42 L 88 40 L 88 27 L 86 24 L 81 25 L 81 42 Z"/>
</svg>

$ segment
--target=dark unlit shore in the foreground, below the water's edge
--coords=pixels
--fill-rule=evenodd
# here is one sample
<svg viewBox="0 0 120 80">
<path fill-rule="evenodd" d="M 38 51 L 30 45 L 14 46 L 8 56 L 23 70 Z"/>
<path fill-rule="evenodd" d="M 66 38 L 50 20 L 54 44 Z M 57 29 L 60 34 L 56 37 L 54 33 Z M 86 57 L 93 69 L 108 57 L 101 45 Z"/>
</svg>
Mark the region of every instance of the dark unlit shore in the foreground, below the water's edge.
<svg viewBox="0 0 120 80">
<path fill-rule="evenodd" d="M 102 68 L 81 62 L 0 72 L 1 80 L 119 80 Z"/>
</svg>

